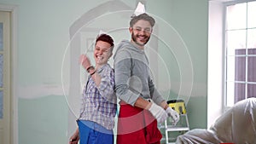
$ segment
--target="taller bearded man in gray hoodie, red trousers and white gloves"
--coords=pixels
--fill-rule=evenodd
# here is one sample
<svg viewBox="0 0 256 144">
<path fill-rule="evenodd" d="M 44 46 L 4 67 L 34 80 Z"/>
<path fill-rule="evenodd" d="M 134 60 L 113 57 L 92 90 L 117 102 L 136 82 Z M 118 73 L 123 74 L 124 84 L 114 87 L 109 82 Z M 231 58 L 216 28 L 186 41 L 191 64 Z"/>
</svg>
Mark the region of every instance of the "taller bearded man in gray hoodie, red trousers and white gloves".
<svg viewBox="0 0 256 144">
<path fill-rule="evenodd" d="M 148 43 L 154 18 L 138 14 L 130 21 L 131 41 L 119 43 L 114 55 L 115 87 L 120 99 L 118 144 L 160 144 L 157 122 L 168 116 L 176 123 L 179 115 L 154 88 L 144 46 Z"/>
</svg>

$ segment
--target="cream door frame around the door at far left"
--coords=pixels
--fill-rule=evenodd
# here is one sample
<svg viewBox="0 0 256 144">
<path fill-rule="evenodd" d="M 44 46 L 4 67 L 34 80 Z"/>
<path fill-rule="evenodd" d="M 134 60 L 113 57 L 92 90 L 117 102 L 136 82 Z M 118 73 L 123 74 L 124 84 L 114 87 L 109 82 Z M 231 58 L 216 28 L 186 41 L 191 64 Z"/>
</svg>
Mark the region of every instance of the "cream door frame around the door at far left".
<svg viewBox="0 0 256 144">
<path fill-rule="evenodd" d="M 18 144 L 18 93 L 17 93 L 17 25 L 18 6 L 14 4 L 0 4 L 0 11 L 10 12 L 10 144 Z"/>
</svg>

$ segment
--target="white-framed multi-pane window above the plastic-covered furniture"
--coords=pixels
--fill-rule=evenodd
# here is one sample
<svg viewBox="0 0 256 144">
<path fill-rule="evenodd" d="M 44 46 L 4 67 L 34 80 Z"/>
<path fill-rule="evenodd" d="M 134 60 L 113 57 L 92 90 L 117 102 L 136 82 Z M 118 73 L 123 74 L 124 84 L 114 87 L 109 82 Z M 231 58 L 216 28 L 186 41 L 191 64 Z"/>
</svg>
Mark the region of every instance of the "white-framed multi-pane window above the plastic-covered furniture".
<svg viewBox="0 0 256 144">
<path fill-rule="evenodd" d="M 225 106 L 256 97 L 256 1 L 225 6 Z"/>
</svg>

